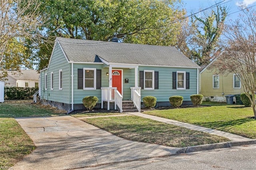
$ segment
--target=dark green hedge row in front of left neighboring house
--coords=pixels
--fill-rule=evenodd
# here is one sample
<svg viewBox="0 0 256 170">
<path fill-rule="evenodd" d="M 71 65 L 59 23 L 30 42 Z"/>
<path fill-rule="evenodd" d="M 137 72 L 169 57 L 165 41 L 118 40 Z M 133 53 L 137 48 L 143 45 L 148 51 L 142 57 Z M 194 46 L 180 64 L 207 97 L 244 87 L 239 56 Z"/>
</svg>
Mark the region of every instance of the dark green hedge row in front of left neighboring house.
<svg viewBox="0 0 256 170">
<path fill-rule="evenodd" d="M 35 87 L 4 87 L 4 99 L 31 100 L 36 91 L 38 88 Z"/>
</svg>

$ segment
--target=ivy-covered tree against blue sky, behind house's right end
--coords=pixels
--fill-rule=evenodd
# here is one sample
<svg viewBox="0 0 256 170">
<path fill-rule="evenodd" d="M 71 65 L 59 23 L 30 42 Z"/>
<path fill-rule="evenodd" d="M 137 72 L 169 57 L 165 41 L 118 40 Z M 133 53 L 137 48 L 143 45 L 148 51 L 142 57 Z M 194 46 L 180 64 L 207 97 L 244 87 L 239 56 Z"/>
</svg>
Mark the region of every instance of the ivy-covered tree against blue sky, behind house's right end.
<svg viewBox="0 0 256 170">
<path fill-rule="evenodd" d="M 194 49 L 190 53 L 191 59 L 198 65 L 207 65 L 218 52 L 218 42 L 224 30 L 224 22 L 228 9 L 226 6 L 216 6 L 210 14 L 204 13 L 202 17 L 193 16 L 192 26 L 196 33 L 192 37 Z"/>
</svg>

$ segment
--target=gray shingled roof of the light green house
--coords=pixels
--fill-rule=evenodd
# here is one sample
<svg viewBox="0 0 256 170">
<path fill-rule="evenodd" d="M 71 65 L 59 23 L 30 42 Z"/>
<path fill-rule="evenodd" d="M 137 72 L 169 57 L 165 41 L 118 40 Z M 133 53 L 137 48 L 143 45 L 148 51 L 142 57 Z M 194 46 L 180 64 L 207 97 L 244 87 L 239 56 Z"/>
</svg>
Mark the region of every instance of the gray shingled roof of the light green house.
<svg viewBox="0 0 256 170">
<path fill-rule="evenodd" d="M 175 47 L 77 40 L 57 37 L 69 61 L 94 62 L 96 55 L 109 63 L 199 67 Z"/>
</svg>

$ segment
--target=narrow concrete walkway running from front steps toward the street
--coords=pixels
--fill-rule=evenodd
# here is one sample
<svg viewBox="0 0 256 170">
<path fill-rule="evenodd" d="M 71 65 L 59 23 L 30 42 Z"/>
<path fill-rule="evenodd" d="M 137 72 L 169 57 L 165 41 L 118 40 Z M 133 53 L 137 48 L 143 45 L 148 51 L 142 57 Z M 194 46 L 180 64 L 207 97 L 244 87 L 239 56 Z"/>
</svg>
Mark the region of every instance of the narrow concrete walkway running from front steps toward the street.
<svg viewBox="0 0 256 170">
<path fill-rule="evenodd" d="M 168 124 L 171 124 L 171 125 L 185 127 L 185 128 L 191 129 L 191 130 L 198 130 L 198 131 L 201 131 L 201 132 L 207 132 L 207 133 L 210 133 L 210 134 L 216 134 L 216 135 L 219 135 L 219 136 L 224 136 L 226 138 L 229 138 L 231 141 L 241 142 L 241 141 L 252 140 L 250 138 L 246 138 L 246 137 L 239 136 L 239 135 L 236 135 L 236 134 L 223 132 L 223 131 L 220 131 L 220 130 L 215 130 L 215 129 L 206 128 L 206 127 L 201 127 L 201 126 L 198 126 L 198 125 L 192 125 L 192 124 L 189 124 L 189 123 L 174 121 L 174 120 L 171 120 L 171 119 L 166 119 L 166 118 L 157 117 L 157 116 L 153 116 L 153 115 L 147 115 L 147 114 L 140 113 L 140 112 L 132 112 L 132 113 L 128 113 L 128 114 L 139 116 L 139 117 L 144 117 L 144 118 L 147 118 L 147 119 L 152 119 L 152 120 L 163 122 L 163 123 L 168 123 Z"/>
</svg>

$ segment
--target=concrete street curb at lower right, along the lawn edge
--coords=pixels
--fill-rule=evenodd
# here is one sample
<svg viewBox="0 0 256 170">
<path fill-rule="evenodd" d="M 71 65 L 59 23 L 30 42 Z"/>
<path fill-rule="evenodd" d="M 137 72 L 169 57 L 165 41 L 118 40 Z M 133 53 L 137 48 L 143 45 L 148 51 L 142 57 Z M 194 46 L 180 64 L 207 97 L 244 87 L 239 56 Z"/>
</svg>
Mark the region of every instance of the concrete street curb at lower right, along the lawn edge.
<svg viewBox="0 0 256 170">
<path fill-rule="evenodd" d="M 256 139 L 247 140 L 247 141 L 231 141 L 231 142 L 222 142 L 222 143 L 214 143 L 214 144 L 204 144 L 198 146 L 188 146 L 180 148 L 176 154 L 186 154 L 190 152 L 198 152 L 204 150 L 212 150 L 212 149 L 220 149 L 220 148 L 231 148 L 234 146 L 243 146 L 256 144 Z"/>
</svg>

